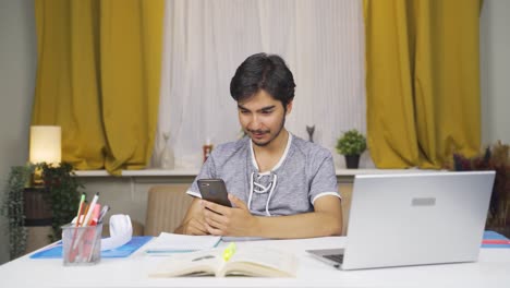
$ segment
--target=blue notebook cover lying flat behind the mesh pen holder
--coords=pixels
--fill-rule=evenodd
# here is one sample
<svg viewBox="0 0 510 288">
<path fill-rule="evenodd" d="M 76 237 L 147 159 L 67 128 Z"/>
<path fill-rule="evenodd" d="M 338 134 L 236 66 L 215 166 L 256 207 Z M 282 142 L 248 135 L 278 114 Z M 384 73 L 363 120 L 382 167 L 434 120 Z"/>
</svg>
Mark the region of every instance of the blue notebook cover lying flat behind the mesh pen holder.
<svg viewBox="0 0 510 288">
<path fill-rule="evenodd" d="M 147 243 L 151 236 L 134 236 L 130 242 L 112 250 L 101 251 L 101 257 L 126 257 L 145 243 Z M 36 252 L 29 256 L 31 259 L 61 259 L 62 257 L 62 241 L 57 242 L 54 245 Z"/>
</svg>

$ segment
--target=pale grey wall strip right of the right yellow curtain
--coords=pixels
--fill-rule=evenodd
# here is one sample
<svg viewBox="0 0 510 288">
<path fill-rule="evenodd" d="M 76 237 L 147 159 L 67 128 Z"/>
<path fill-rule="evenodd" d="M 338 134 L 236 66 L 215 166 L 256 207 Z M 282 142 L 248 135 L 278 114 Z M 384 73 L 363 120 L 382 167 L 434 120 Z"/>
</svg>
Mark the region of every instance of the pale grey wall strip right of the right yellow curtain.
<svg viewBox="0 0 510 288">
<path fill-rule="evenodd" d="M 510 143 L 510 1 L 484 1 L 481 33 L 482 141 Z"/>
</svg>

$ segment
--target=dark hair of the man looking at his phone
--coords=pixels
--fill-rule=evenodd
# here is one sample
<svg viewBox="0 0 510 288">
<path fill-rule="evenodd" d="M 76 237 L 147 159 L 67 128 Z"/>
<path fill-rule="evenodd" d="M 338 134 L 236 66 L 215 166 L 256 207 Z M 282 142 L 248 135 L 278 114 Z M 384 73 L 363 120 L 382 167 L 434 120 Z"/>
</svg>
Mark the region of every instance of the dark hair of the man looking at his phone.
<svg viewBox="0 0 510 288">
<path fill-rule="evenodd" d="M 294 77 L 286 61 L 277 55 L 252 55 L 235 70 L 230 82 L 230 94 L 239 101 L 260 89 L 281 101 L 283 109 L 294 98 Z"/>
</svg>

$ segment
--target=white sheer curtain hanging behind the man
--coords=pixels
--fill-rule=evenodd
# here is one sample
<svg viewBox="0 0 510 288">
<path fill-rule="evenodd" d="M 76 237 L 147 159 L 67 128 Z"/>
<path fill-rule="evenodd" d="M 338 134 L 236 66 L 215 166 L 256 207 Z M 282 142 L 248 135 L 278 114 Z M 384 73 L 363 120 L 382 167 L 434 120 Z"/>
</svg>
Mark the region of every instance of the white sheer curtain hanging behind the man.
<svg viewBox="0 0 510 288">
<path fill-rule="evenodd" d="M 337 139 L 366 131 L 362 0 L 168 0 L 165 25 L 156 166 L 165 145 L 175 168 L 198 168 L 207 139 L 238 139 L 230 80 L 264 51 L 280 55 L 294 74 L 288 130 L 308 139 L 306 125 L 315 125 L 314 142 L 344 167 Z"/>
</svg>

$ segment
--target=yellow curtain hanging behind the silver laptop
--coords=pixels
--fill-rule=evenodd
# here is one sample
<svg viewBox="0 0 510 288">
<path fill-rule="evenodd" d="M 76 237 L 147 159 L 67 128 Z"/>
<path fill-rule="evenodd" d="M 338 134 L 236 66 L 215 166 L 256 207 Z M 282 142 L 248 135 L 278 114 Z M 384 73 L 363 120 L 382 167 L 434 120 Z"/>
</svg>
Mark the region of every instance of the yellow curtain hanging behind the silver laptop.
<svg viewBox="0 0 510 288">
<path fill-rule="evenodd" d="M 479 0 L 364 1 L 367 142 L 379 168 L 479 152 Z"/>
</svg>

